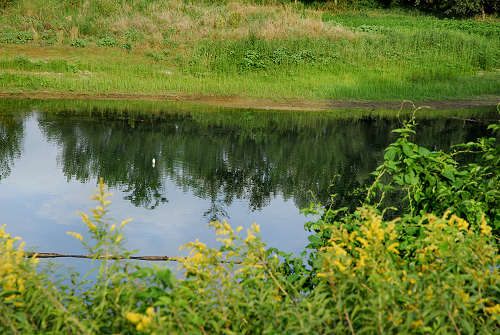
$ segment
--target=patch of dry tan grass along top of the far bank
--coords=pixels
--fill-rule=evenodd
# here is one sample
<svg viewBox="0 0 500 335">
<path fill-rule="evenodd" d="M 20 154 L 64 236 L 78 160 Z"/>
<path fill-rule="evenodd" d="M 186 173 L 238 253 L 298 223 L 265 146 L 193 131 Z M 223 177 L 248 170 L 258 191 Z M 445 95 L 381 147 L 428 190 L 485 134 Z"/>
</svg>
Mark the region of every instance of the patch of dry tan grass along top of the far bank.
<svg viewBox="0 0 500 335">
<path fill-rule="evenodd" d="M 320 10 L 304 9 L 293 3 L 256 5 L 240 1 L 221 4 L 163 0 L 149 3 L 141 10 L 134 6 L 121 1 L 91 3 L 87 0 L 63 8 L 54 1 L 20 0 L 18 8 L 4 13 L 0 24 L 6 27 L 15 25 L 12 28 L 35 31 L 39 35 L 44 32 L 55 35 L 57 31 L 63 31 L 70 40 L 97 39 L 111 34 L 125 41 L 127 32 L 135 30 L 141 33 L 141 40 L 137 43 L 139 48 L 160 47 L 166 39 L 182 45 L 203 39 L 245 39 L 249 35 L 263 39 L 337 39 L 352 38 L 356 34 L 323 22 Z"/>
</svg>

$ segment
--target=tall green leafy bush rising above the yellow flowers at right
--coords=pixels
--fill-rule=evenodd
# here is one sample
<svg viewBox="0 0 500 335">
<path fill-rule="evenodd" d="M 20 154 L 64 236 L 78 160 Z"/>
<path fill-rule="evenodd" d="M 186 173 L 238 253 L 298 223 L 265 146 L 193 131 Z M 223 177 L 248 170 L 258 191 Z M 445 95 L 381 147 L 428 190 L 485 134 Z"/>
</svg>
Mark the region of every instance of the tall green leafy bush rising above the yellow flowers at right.
<svg viewBox="0 0 500 335">
<path fill-rule="evenodd" d="M 419 218 L 424 213 L 439 215 L 449 210 L 473 225 L 483 220 L 500 233 L 500 147 L 495 137 L 458 145 L 451 153 L 430 151 L 409 141 L 415 134 L 414 121 L 393 132 L 400 134 L 375 172 L 374 190 L 381 192 L 378 203 L 390 192 L 404 194 L 405 214 Z M 467 155 L 468 164 L 460 164 Z M 385 181 L 384 177 L 388 177 Z M 390 195 L 389 195 L 390 197 Z M 373 199 L 373 200 L 372 200 Z M 484 218 L 486 217 L 486 218 Z"/>
</svg>

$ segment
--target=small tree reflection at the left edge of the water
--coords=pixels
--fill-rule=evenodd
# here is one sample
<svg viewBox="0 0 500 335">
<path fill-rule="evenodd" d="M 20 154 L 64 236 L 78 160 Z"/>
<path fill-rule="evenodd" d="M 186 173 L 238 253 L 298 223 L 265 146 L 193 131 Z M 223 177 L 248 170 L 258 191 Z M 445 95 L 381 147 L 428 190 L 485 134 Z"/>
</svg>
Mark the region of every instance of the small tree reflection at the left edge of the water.
<svg viewBox="0 0 500 335">
<path fill-rule="evenodd" d="M 24 115 L 0 111 L 0 181 L 11 172 L 14 160 L 21 156 Z"/>
</svg>

